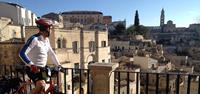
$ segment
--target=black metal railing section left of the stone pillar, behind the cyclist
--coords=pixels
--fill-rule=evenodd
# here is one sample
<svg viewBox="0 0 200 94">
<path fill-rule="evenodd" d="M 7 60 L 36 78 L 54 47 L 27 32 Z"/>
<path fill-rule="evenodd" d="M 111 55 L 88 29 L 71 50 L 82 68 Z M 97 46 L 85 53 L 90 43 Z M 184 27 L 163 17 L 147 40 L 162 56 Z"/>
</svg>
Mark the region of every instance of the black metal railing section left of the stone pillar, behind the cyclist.
<svg viewBox="0 0 200 94">
<path fill-rule="evenodd" d="M 20 68 L 19 68 L 20 67 Z M 69 73 L 69 71 L 71 71 L 71 73 Z M 59 74 L 57 74 L 56 76 L 52 76 L 50 77 L 50 79 L 53 79 L 55 81 L 55 85 L 57 85 L 57 88 L 59 89 L 60 86 L 64 87 L 64 92 L 62 92 L 63 94 L 75 94 L 75 91 L 79 92 L 79 94 L 85 94 L 83 93 L 83 85 L 87 85 L 87 94 L 90 94 L 90 89 L 89 89 L 89 70 L 88 69 L 75 69 L 75 68 L 64 68 L 64 72 L 60 73 L 63 74 L 63 79 L 64 80 L 64 84 L 60 85 L 60 81 L 59 81 Z M 12 79 L 12 78 L 20 78 L 23 82 L 26 81 L 26 72 L 25 72 L 25 67 L 22 66 L 16 66 L 16 65 L 0 65 L 0 84 L 1 84 L 1 79 L 3 79 L 3 77 L 7 76 L 8 79 Z M 67 78 L 67 76 L 71 77 L 71 78 Z M 71 80 L 71 86 L 69 86 L 67 83 L 67 79 Z M 1 88 L 1 87 L 0 87 Z M 70 89 L 69 89 L 70 88 Z M 32 86 L 30 85 L 30 90 L 32 89 Z M 69 92 L 71 91 L 71 92 Z M 10 93 L 13 93 L 14 90 L 13 88 L 10 89 Z M 68 93 L 67 93 L 68 92 Z M 1 93 L 1 91 L 0 91 Z M 61 92 L 60 92 L 61 93 Z M 59 93 L 59 94 L 60 94 Z"/>
</svg>

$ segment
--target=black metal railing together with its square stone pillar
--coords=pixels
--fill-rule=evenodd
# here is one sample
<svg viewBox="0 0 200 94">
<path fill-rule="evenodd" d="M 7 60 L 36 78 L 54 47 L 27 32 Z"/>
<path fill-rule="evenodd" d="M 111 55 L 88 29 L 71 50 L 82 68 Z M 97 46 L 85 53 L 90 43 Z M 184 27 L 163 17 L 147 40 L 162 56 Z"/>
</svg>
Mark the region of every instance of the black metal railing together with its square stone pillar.
<svg viewBox="0 0 200 94">
<path fill-rule="evenodd" d="M 117 66 L 101 63 L 91 64 L 89 69 L 65 68 L 65 72 L 51 79 L 55 82 L 55 90 L 63 94 L 200 94 L 200 74 L 122 71 L 117 70 Z M 18 67 L 0 65 L 1 94 L 8 89 L 6 86 L 13 85 L 10 80 L 2 80 L 3 77 L 28 79 L 23 67 Z M 33 85 L 28 87 L 31 90 Z M 13 93 L 15 89 L 9 91 Z"/>
</svg>

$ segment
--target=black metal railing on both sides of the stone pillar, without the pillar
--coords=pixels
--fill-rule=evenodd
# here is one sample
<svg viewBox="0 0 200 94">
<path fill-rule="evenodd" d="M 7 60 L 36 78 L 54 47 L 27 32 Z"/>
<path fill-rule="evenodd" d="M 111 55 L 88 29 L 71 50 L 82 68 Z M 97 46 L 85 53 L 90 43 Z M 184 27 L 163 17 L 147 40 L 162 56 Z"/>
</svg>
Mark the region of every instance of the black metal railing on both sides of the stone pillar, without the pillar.
<svg viewBox="0 0 200 94">
<path fill-rule="evenodd" d="M 63 90 L 60 91 L 64 94 L 94 94 L 92 93 L 93 85 L 91 85 L 94 83 L 90 82 L 91 71 L 93 70 L 65 68 L 65 72 L 61 73 L 63 76 L 56 75 L 51 79 L 54 79 L 58 89 L 63 87 Z M 114 70 L 112 73 L 114 73 L 113 94 L 200 94 L 200 74 L 120 70 Z M 13 65 L 0 65 L 0 85 L 3 76 L 19 77 L 23 81 L 26 80 L 24 69 L 19 70 Z M 64 80 L 63 84 L 60 84 L 60 79 Z M 83 88 L 84 90 L 81 91 Z M 30 89 L 32 89 L 31 85 Z M 11 89 L 11 92 L 14 91 Z"/>
</svg>

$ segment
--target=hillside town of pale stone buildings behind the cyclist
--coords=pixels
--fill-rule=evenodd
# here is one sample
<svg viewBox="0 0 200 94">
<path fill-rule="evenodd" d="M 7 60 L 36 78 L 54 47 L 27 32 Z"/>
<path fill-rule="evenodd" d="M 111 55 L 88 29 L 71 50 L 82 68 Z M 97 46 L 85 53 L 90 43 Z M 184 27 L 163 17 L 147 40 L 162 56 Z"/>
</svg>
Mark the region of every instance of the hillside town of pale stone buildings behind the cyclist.
<svg viewBox="0 0 200 94">
<path fill-rule="evenodd" d="M 199 76 L 190 78 L 179 74 L 200 73 L 200 23 L 176 27 L 172 20 L 165 21 L 168 19 L 165 19 L 167 12 L 164 8 L 158 11 L 160 25 L 140 25 L 139 10 L 133 10 L 135 21 L 129 27 L 126 20 L 113 21 L 111 15 L 96 10 L 55 11 L 38 17 L 21 5 L 0 2 L 0 11 L 1 75 L 12 72 L 4 65 L 23 66 L 19 52 L 28 38 L 37 33 L 36 20 L 46 18 L 54 23 L 49 40 L 58 60 L 64 68 L 75 71 L 66 70 L 66 74 L 59 75 L 59 82 L 65 83 L 59 88 L 63 94 L 80 94 L 77 89 L 80 83 L 84 89 L 82 94 L 185 94 L 188 92 L 188 79 L 193 87 L 190 93 L 199 92 Z M 52 64 L 49 59 L 48 64 Z M 108 67 L 117 72 L 106 73 Z M 82 74 L 83 71 L 76 72 L 76 69 L 91 69 L 91 74 L 85 71 Z M 127 71 L 128 74 L 119 71 Z M 164 75 L 176 73 L 178 76 Z M 84 75 L 82 79 L 81 75 Z M 104 83 L 96 81 L 96 84 L 89 85 L 87 75 L 92 77 L 93 83 L 96 80 Z M 84 79 L 86 76 L 87 80 Z M 101 91 L 107 83 L 110 87 L 108 91 L 113 93 Z M 99 84 L 102 87 L 98 87 Z M 93 93 L 87 91 L 90 86 L 94 86 L 90 90 Z"/>
</svg>

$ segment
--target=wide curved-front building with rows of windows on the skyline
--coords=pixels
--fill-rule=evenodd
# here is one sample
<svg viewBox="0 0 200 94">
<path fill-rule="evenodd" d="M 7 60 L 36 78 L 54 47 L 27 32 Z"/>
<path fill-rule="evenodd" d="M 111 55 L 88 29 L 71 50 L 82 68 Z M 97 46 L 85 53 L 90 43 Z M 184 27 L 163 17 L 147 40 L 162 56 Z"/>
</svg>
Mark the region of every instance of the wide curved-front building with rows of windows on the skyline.
<svg viewBox="0 0 200 94">
<path fill-rule="evenodd" d="M 83 25 L 103 23 L 103 13 L 99 11 L 68 11 L 63 12 L 61 15 L 63 16 L 64 26 L 68 23 Z"/>
</svg>

